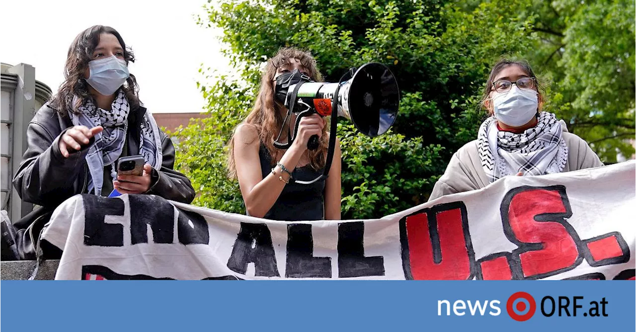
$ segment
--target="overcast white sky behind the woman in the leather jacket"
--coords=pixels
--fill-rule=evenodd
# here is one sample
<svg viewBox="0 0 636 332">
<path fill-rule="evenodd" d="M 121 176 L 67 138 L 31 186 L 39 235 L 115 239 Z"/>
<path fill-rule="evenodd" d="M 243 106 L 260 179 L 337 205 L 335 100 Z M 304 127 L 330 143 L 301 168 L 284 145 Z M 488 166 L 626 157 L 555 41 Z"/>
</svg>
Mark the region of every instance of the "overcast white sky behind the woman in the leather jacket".
<svg viewBox="0 0 636 332">
<path fill-rule="evenodd" d="M 228 71 L 216 39 L 221 32 L 196 24 L 207 0 L 0 0 L 0 61 L 36 68 L 53 92 L 64 79 L 66 53 L 84 29 L 110 25 L 132 47 L 130 66 L 142 102 L 153 113 L 200 112 L 200 64 Z"/>
</svg>

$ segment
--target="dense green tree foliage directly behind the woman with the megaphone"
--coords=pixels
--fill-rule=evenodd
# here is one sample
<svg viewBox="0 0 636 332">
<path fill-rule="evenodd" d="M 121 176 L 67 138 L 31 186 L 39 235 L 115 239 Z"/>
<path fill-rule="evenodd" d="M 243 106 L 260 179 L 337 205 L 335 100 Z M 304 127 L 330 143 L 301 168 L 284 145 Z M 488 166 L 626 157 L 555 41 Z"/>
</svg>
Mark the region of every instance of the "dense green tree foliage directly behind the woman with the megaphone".
<svg viewBox="0 0 636 332">
<path fill-rule="evenodd" d="M 221 0 L 199 24 L 220 27 L 240 80 L 201 86 L 210 118 L 174 133 L 177 167 L 200 195 L 195 204 L 244 212 L 225 177 L 226 142 L 251 108 L 263 62 L 282 46 L 310 50 L 326 81 L 352 66 L 387 64 L 402 91 L 391 132 L 370 139 L 339 120 L 343 218 L 373 218 L 427 200 L 454 151 L 474 139 L 485 114 L 480 90 L 492 62 L 534 45 L 531 3 L 453 1 Z"/>
</svg>

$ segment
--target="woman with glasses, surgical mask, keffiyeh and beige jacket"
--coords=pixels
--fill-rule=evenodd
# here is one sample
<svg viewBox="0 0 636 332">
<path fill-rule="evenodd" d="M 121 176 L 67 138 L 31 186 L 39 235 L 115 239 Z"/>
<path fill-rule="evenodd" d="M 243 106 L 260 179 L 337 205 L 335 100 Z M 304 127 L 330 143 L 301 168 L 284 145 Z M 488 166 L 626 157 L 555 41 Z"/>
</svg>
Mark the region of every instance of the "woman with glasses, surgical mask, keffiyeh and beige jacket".
<svg viewBox="0 0 636 332">
<path fill-rule="evenodd" d="M 483 107 L 490 116 L 477 139 L 460 148 L 429 200 L 483 188 L 504 176 L 536 176 L 603 166 L 590 146 L 542 111 L 543 94 L 525 61 L 499 60 L 490 71 Z"/>
</svg>

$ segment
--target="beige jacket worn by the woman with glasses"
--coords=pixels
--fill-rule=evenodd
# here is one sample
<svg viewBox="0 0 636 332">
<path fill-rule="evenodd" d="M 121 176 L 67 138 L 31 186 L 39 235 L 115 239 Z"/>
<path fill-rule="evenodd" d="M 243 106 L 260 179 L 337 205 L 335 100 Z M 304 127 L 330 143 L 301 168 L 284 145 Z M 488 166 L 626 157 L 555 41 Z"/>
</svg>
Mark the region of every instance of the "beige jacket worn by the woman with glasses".
<svg viewBox="0 0 636 332">
<path fill-rule="evenodd" d="M 563 132 L 563 139 L 568 148 L 567 163 L 563 172 L 603 166 L 596 153 L 581 137 Z M 477 141 L 468 142 L 450 159 L 446 172 L 435 184 L 429 201 L 452 193 L 480 189 L 488 184 L 490 182 L 486 172 L 481 167 Z"/>
</svg>

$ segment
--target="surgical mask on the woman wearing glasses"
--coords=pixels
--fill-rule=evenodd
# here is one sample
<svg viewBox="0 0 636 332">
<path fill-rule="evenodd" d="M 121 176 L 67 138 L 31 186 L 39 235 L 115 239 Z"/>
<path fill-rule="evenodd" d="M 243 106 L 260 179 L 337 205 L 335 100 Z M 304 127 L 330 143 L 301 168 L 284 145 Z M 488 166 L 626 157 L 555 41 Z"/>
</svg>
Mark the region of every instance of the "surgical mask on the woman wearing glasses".
<svg viewBox="0 0 636 332">
<path fill-rule="evenodd" d="M 521 127 L 537 114 L 539 97 L 535 90 L 520 90 L 514 85 L 509 92 L 492 98 L 495 119 L 510 127 Z"/>
</svg>

